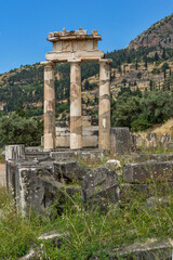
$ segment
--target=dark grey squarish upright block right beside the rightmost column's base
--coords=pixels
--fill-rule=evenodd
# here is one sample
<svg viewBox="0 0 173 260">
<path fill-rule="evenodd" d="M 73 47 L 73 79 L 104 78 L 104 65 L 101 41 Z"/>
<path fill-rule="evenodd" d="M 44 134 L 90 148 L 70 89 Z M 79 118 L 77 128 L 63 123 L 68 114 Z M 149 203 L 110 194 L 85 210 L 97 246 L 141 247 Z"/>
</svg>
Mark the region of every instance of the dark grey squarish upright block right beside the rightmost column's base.
<svg viewBox="0 0 173 260">
<path fill-rule="evenodd" d="M 132 140 L 129 128 L 110 129 L 110 154 L 125 155 L 132 152 Z"/>
</svg>

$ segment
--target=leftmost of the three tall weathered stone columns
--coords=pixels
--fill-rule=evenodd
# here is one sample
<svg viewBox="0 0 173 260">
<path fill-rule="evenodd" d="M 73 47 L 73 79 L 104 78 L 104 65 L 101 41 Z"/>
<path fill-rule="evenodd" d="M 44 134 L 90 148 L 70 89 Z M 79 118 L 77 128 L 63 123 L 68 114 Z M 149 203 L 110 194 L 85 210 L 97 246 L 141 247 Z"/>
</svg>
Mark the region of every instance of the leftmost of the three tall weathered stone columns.
<svg viewBox="0 0 173 260">
<path fill-rule="evenodd" d="M 56 146 L 54 63 L 44 64 L 44 150 Z"/>
</svg>

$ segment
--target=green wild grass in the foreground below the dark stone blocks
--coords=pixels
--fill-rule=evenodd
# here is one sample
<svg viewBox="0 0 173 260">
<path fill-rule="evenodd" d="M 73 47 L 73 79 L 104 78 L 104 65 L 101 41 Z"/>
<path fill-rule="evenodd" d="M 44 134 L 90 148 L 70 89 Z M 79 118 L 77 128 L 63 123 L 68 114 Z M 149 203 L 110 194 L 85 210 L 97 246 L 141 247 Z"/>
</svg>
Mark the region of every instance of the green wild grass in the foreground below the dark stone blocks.
<svg viewBox="0 0 173 260">
<path fill-rule="evenodd" d="M 160 188 L 155 188 L 156 195 L 161 196 Z M 170 203 L 158 204 L 151 210 L 146 208 L 146 199 L 134 193 L 131 199 L 110 206 L 107 212 L 97 209 L 84 211 L 82 197 L 77 194 L 66 200 L 62 216 L 55 211 L 54 218 L 30 213 L 23 219 L 16 212 L 14 202 L 1 188 L 0 259 L 18 259 L 30 247 L 37 250 L 40 247 L 37 237 L 51 230 L 68 231 L 70 236 L 64 238 L 59 248 L 50 242 L 41 242 L 42 259 L 86 260 L 97 256 L 97 259 L 105 260 L 115 248 L 147 238 L 173 237 L 173 193 L 171 190 L 168 192 Z"/>
</svg>

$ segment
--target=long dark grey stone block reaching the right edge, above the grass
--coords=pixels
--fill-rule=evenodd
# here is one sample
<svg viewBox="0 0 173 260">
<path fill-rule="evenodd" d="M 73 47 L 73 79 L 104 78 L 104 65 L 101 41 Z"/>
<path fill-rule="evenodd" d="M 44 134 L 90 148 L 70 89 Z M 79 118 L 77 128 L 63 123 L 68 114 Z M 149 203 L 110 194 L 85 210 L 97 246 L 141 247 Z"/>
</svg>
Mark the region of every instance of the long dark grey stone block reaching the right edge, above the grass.
<svg viewBox="0 0 173 260">
<path fill-rule="evenodd" d="M 172 161 L 127 164 L 122 168 L 123 180 L 130 183 L 146 181 L 173 181 Z"/>
</svg>

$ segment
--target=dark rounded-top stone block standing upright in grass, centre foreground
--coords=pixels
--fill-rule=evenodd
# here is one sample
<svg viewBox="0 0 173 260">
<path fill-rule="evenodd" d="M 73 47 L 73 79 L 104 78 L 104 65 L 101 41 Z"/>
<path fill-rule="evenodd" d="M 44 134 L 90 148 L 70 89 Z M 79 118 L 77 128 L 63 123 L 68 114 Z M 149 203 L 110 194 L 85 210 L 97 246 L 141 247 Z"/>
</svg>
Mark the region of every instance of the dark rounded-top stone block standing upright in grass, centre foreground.
<svg viewBox="0 0 173 260">
<path fill-rule="evenodd" d="M 82 196 L 86 207 L 105 210 L 119 200 L 119 180 L 115 171 L 98 167 L 89 171 L 82 182 Z"/>
</svg>

